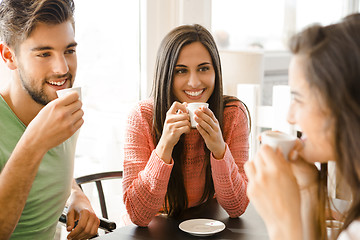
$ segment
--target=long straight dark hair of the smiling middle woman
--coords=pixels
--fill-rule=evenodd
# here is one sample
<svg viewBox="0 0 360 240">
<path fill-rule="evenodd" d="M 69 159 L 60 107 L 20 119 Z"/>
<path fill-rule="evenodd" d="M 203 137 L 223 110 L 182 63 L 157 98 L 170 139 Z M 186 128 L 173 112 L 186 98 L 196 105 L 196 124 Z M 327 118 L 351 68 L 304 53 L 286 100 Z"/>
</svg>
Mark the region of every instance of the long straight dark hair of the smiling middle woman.
<svg viewBox="0 0 360 240">
<path fill-rule="evenodd" d="M 219 52 L 215 41 L 208 30 L 204 27 L 194 25 L 183 25 L 173 29 L 161 42 L 158 50 L 155 77 L 153 81 L 152 95 L 154 99 L 153 134 L 154 142 L 157 144 L 166 118 L 166 112 L 176 101 L 172 92 L 175 65 L 181 49 L 194 42 L 200 42 L 209 52 L 215 70 L 215 86 L 208 103 L 209 108 L 223 126 L 223 111 L 226 102 L 239 101 L 235 97 L 223 96 L 223 85 L 221 77 L 221 64 Z M 250 116 L 250 115 L 248 115 Z M 184 185 L 183 167 L 184 136 L 175 145 L 172 158 L 174 167 L 170 176 L 167 193 L 165 197 L 164 210 L 169 216 L 178 217 L 188 206 L 188 199 Z M 210 151 L 205 146 L 205 171 L 206 180 L 201 202 L 210 200 L 214 195 L 214 185 L 211 175 Z"/>
</svg>

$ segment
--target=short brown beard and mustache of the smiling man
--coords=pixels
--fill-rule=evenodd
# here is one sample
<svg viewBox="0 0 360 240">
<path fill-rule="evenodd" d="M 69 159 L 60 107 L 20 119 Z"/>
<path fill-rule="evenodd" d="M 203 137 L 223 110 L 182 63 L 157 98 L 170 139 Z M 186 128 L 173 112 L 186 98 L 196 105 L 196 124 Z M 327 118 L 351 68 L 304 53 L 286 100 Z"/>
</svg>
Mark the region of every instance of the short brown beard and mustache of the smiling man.
<svg viewBox="0 0 360 240">
<path fill-rule="evenodd" d="M 33 88 L 33 86 L 31 86 L 31 83 L 35 83 L 36 81 L 34 81 L 33 79 L 31 79 L 31 81 L 25 81 L 24 79 L 29 80 L 29 78 L 24 77 L 24 75 L 26 74 L 23 74 L 22 69 L 19 69 L 19 76 L 22 86 L 36 103 L 41 104 L 43 106 L 45 106 L 46 104 L 52 101 L 44 92 L 44 86 L 46 82 L 48 82 L 50 79 L 67 78 L 68 79 L 67 81 L 70 82 L 70 87 L 72 87 L 72 75 L 69 72 L 63 75 L 54 75 L 52 77 L 47 77 L 43 79 L 40 90 L 36 90 Z"/>
</svg>

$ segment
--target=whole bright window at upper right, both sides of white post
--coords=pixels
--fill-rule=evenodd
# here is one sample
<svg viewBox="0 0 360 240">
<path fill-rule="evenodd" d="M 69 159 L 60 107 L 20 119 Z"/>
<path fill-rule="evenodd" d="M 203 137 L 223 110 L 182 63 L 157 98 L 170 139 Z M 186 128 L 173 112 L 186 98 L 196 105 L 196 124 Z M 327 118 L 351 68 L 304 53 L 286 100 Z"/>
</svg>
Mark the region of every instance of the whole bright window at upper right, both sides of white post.
<svg viewBox="0 0 360 240">
<path fill-rule="evenodd" d="M 357 9 L 357 0 L 212 0 L 212 31 L 220 48 L 283 51 L 305 26 L 330 24 Z"/>
</svg>

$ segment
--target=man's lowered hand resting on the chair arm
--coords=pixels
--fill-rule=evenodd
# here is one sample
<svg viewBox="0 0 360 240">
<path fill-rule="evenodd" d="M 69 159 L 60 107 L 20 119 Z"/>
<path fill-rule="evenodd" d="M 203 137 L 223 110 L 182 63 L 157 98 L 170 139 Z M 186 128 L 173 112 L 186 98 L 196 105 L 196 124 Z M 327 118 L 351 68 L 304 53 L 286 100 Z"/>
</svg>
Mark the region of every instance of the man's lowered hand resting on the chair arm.
<svg viewBox="0 0 360 240">
<path fill-rule="evenodd" d="M 74 183 L 76 184 L 76 183 Z M 100 220 L 85 194 L 73 184 L 73 191 L 69 199 L 66 228 L 70 234 L 68 239 L 88 239 L 97 234 Z M 75 189 L 74 189 L 75 188 Z M 75 222 L 77 225 L 75 226 Z"/>
</svg>

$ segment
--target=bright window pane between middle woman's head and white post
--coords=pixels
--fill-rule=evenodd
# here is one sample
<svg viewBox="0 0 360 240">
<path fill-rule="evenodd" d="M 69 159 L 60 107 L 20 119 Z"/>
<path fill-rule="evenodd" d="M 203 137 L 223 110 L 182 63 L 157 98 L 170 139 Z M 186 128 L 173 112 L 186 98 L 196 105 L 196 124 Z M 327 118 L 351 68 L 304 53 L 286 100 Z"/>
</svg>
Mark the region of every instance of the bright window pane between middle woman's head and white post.
<svg viewBox="0 0 360 240">
<path fill-rule="evenodd" d="M 283 49 L 284 0 L 212 0 L 212 32 L 219 48 Z"/>
</svg>

